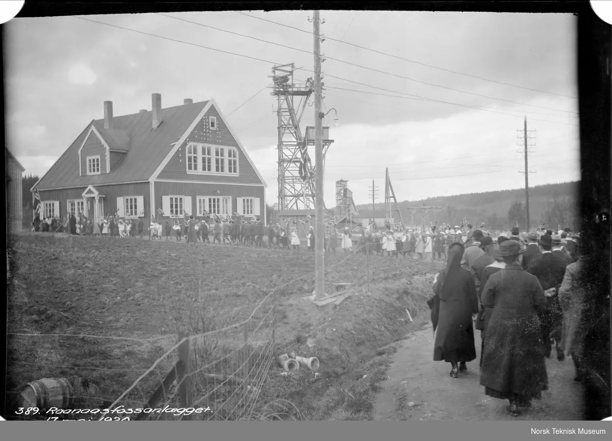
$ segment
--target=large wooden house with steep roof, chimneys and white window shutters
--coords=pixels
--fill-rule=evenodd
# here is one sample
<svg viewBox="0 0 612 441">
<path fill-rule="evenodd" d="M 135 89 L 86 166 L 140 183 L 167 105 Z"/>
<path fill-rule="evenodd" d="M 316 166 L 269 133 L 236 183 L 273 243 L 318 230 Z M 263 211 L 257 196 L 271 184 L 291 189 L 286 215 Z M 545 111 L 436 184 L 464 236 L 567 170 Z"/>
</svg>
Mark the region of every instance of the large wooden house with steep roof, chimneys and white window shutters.
<svg viewBox="0 0 612 441">
<path fill-rule="evenodd" d="M 91 121 L 34 184 L 40 216 L 125 219 L 239 214 L 266 222 L 266 183 L 214 100 Z"/>
</svg>

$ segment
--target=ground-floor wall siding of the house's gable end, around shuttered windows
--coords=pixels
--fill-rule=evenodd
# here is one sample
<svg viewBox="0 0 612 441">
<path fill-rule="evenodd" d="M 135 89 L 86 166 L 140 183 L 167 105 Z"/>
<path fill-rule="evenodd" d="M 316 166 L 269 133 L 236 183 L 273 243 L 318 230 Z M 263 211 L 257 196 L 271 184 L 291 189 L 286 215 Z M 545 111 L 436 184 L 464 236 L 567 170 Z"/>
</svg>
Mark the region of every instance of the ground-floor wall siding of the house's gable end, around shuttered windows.
<svg viewBox="0 0 612 441">
<path fill-rule="evenodd" d="M 190 196 L 192 198 L 191 209 L 184 207 L 187 213 L 197 213 L 197 196 L 218 196 L 218 197 L 231 197 L 231 213 L 236 211 L 236 198 L 237 197 L 256 197 L 259 198 L 259 219 L 264 218 L 264 210 L 266 204 L 264 202 L 263 186 L 241 186 L 232 184 L 193 184 L 193 183 L 166 183 L 157 182 L 154 183 L 155 188 L 155 211 L 162 208 L 162 196 L 170 195 L 182 195 Z M 194 214 L 195 216 L 195 214 Z M 162 219 L 170 219 L 170 216 L 162 217 Z"/>
</svg>

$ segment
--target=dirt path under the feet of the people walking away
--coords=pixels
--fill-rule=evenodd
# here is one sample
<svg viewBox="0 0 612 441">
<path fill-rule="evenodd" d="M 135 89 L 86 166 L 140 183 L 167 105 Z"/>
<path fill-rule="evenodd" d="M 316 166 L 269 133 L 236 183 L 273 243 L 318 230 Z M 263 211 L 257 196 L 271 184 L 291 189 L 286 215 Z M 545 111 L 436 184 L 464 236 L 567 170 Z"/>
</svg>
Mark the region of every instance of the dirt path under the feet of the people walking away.
<svg viewBox="0 0 612 441">
<path fill-rule="evenodd" d="M 431 325 L 398 346 L 387 371 L 389 379 L 376 398 L 378 420 L 562 420 L 582 419 L 580 384 L 573 382 L 572 360 L 547 359 L 550 389 L 531 409 L 513 418 L 505 412 L 507 401 L 486 396 L 480 386 L 480 331 L 476 331 L 477 359 L 458 379 L 449 376 L 450 364 L 434 362 Z"/>
</svg>

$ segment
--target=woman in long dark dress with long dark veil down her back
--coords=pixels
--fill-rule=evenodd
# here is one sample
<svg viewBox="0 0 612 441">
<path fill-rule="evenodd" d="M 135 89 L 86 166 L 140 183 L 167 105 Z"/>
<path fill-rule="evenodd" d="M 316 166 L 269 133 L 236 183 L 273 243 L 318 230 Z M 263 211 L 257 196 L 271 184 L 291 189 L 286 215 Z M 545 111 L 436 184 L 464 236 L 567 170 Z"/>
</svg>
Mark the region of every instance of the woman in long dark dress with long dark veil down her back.
<svg viewBox="0 0 612 441">
<path fill-rule="evenodd" d="M 434 296 L 428 301 L 436 333 L 433 361 L 450 363 L 453 378 L 468 370 L 468 361 L 476 359 L 472 317 L 478 312 L 478 299 L 472 275 L 461 267 L 463 251 L 460 243 L 451 244 L 446 268 L 436 276 Z"/>
</svg>

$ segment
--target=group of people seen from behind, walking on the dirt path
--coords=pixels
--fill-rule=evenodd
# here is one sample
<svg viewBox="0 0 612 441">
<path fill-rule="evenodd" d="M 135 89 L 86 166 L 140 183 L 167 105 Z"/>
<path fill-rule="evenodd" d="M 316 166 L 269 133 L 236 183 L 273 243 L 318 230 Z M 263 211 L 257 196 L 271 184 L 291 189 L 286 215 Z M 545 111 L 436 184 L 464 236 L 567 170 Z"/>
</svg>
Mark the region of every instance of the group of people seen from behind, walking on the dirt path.
<svg viewBox="0 0 612 441">
<path fill-rule="evenodd" d="M 485 394 L 509 401 L 519 415 L 548 389 L 545 358 L 572 358 L 581 371 L 584 292 L 577 275 L 584 265 L 580 235 L 540 227 L 496 239 L 472 232 L 469 244 L 453 240 L 446 267 L 433 283 L 431 309 L 434 361 L 450 363 L 458 378 L 476 360 L 474 330 L 480 330 L 480 385 Z"/>
</svg>

